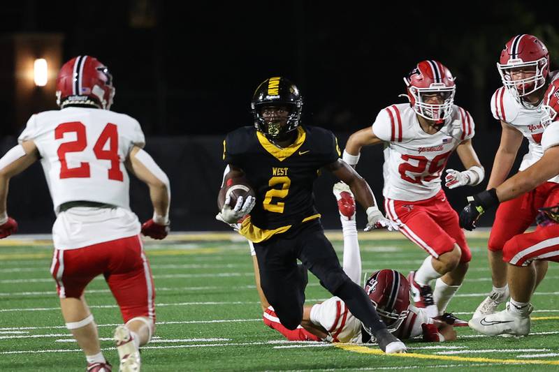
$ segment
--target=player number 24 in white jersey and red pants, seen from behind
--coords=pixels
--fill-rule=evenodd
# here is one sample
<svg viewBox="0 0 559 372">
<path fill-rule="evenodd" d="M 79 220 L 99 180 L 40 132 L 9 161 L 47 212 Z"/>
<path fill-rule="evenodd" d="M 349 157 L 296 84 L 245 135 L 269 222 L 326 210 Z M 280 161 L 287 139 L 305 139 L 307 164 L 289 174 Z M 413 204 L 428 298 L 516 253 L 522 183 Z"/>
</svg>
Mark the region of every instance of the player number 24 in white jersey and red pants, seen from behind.
<svg viewBox="0 0 559 372">
<path fill-rule="evenodd" d="M 155 329 L 155 290 L 139 234 L 164 239 L 169 230 L 168 178 L 142 149 L 138 121 L 109 110 L 114 93 L 100 61 L 71 59 L 57 77 L 60 110 L 31 116 L 20 144 L 0 159 L 0 238 L 17 230 L 6 214 L 10 178 L 41 160 L 57 215 L 50 272 L 66 327 L 85 352 L 90 372 L 108 372 L 111 366 L 85 302 L 86 286 L 105 277 L 125 323 L 115 329 L 119 370 L 139 371 L 139 348 Z M 125 166 L 150 188 L 154 216 L 141 228 L 129 207 Z"/>
</svg>

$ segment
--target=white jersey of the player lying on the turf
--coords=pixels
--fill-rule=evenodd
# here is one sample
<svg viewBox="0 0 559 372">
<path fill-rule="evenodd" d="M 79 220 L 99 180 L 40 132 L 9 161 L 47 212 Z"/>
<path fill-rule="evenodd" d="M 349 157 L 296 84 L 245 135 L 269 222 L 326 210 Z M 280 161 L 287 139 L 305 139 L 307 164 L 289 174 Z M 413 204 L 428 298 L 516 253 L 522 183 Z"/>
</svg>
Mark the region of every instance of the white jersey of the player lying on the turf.
<svg viewBox="0 0 559 372">
<path fill-rule="evenodd" d="M 361 321 L 354 317 L 339 297 L 331 297 L 321 304 L 312 306 L 310 320 L 315 325 L 321 325 L 328 331 L 328 341 L 345 343 L 363 343 Z M 422 324 L 433 324 L 423 310 L 415 306 L 409 306 L 407 318 L 402 325 L 393 332 L 394 336 L 405 340 L 421 336 L 423 334 Z M 365 335 L 368 340 L 368 334 Z M 373 338 L 370 342 L 375 342 Z"/>
</svg>

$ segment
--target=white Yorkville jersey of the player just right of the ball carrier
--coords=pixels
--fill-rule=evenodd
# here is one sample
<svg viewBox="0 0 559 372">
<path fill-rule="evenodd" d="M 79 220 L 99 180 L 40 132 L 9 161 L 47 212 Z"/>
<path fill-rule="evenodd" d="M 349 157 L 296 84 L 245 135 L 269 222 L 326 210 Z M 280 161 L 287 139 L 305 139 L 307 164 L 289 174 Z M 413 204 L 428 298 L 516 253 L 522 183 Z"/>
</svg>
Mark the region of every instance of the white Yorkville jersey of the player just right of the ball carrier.
<svg viewBox="0 0 559 372">
<path fill-rule="evenodd" d="M 453 105 L 451 116 L 434 134 L 419 124 L 409 103 L 381 110 L 372 132 L 385 141 L 384 198 L 414 202 L 436 195 L 441 174 L 458 144 L 474 136 L 474 120 L 462 107 Z"/>
</svg>

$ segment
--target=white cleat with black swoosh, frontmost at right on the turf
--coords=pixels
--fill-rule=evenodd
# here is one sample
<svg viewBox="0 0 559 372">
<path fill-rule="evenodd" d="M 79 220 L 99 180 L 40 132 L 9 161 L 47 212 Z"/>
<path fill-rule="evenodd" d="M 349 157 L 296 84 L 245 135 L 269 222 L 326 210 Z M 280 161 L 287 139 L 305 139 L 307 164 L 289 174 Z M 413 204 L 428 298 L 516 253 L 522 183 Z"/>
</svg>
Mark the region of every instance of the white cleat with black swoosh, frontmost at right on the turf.
<svg viewBox="0 0 559 372">
<path fill-rule="evenodd" d="M 528 304 L 528 313 L 519 315 L 510 311 L 512 305 L 507 302 L 507 308 L 498 313 L 489 314 L 482 318 L 474 318 L 468 322 L 472 329 L 487 336 L 498 334 L 511 334 L 512 336 L 526 336 L 530 333 L 530 313 L 534 307 Z"/>
</svg>

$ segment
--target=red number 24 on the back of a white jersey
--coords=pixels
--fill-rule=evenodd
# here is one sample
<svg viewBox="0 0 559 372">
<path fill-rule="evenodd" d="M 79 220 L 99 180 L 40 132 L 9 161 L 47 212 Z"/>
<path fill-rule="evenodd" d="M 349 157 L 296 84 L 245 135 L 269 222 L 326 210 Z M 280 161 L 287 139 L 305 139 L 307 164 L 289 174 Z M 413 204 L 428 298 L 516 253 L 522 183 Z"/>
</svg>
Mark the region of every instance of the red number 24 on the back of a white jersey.
<svg viewBox="0 0 559 372">
<path fill-rule="evenodd" d="M 85 125 L 80 121 L 70 121 L 69 123 L 62 123 L 55 129 L 55 139 L 60 140 L 64 138 L 65 133 L 75 133 L 76 139 L 71 142 L 64 142 L 58 148 L 57 154 L 60 161 L 60 178 L 89 178 L 89 163 L 81 162 L 79 167 L 68 168 L 66 163 L 66 153 L 68 152 L 81 152 L 87 147 L 87 136 L 85 135 Z M 109 142 L 107 150 L 103 149 Z M 120 170 L 120 161 L 118 156 L 118 132 L 115 124 L 108 123 L 95 146 L 93 152 L 99 160 L 110 161 L 110 168 L 108 170 L 108 178 L 115 181 L 123 181 L 124 174 Z"/>
</svg>

